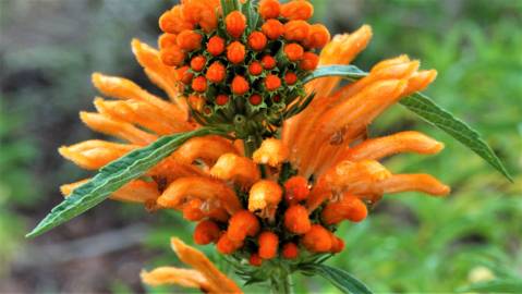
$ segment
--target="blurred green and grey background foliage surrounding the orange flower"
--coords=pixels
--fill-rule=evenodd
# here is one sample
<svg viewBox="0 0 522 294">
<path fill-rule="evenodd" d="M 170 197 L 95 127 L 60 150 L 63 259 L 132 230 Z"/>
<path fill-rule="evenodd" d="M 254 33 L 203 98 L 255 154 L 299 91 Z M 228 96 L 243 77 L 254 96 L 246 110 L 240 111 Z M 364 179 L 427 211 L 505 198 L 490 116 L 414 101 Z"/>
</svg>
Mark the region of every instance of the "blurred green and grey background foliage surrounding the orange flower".
<svg viewBox="0 0 522 294">
<path fill-rule="evenodd" d="M 347 249 L 329 265 L 375 292 L 453 292 L 481 280 L 522 279 L 522 1 L 314 2 L 315 21 L 333 33 L 373 26 L 356 65 L 367 70 L 408 53 L 423 69 L 437 69 L 427 93 L 483 133 L 515 179 L 510 184 L 449 136 L 393 107 L 373 125 L 374 135 L 420 130 L 446 149 L 392 157 L 386 166 L 432 173 L 453 192 L 446 199 L 386 197 L 363 223 L 342 225 Z M 0 292 L 153 291 L 141 285 L 139 270 L 178 262 L 169 236 L 190 241 L 192 226 L 174 213 L 132 205 L 107 201 L 44 236 L 23 237 L 61 200 L 60 184 L 87 175 L 56 150 L 100 137 L 77 118 L 93 109 L 90 73 L 130 77 L 158 93 L 134 62 L 130 41 L 155 45 L 157 19 L 174 3 L 0 0 Z M 320 278 L 296 275 L 295 282 L 298 292 L 337 293 Z"/>
</svg>

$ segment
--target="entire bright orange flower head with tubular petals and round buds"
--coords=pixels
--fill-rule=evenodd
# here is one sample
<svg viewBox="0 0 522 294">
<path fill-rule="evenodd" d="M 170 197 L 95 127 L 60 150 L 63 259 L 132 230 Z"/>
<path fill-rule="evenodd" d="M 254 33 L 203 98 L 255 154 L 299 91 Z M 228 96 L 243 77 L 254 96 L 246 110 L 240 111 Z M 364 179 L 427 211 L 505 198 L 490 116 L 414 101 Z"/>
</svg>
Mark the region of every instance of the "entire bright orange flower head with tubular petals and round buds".
<svg viewBox="0 0 522 294">
<path fill-rule="evenodd" d="M 275 267 L 341 252 L 338 225 L 364 220 L 385 194 L 442 196 L 449 188 L 428 174 L 396 174 L 379 163 L 400 152 L 436 154 L 441 143 L 413 131 L 377 138 L 366 133 L 387 108 L 426 88 L 436 71 L 400 56 L 345 86 L 340 77 L 304 85 L 317 65 L 350 64 L 368 44 L 369 26 L 330 40 L 325 26 L 306 22 L 309 2 L 262 0 L 253 9 L 260 16 L 254 23 L 244 11 L 224 15 L 218 0 L 185 0 L 166 12 L 159 50 L 139 40 L 132 50 L 169 100 L 95 73 L 94 85 L 113 99 L 96 98 L 97 112 L 81 112 L 81 119 L 124 143 L 86 140 L 59 151 L 95 170 L 163 135 L 233 125 L 229 137 L 189 139 L 112 198 L 149 211 L 179 210 L 198 222 L 196 244 L 215 244 L 233 262 L 251 265 L 251 277 L 269 279 Z M 284 117 L 312 94 L 299 114 Z M 63 194 L 82 183 L 62 186 Z M 144 272 L 144 282 L 240 291 L 201 253 L 178 240 L 172 244 L 194 270 L 159 268 Z"/>
</svg>

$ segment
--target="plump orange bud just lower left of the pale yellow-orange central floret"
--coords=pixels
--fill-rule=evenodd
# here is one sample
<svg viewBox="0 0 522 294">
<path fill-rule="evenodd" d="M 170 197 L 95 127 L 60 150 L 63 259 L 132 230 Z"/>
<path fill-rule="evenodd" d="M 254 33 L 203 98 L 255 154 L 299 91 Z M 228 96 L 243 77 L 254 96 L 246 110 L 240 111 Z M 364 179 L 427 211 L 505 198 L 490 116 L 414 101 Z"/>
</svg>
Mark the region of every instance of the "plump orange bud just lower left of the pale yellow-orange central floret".
<svg viewBox="0 0 522 294">
<path fill-rule="evenodd" d="M 229 221 L 227 236 L 231 241 L 242 242 L 245 237 L 255 236 L 259 231 L 259 221 L 248 210 L 235 212 Z"/>
</svg>

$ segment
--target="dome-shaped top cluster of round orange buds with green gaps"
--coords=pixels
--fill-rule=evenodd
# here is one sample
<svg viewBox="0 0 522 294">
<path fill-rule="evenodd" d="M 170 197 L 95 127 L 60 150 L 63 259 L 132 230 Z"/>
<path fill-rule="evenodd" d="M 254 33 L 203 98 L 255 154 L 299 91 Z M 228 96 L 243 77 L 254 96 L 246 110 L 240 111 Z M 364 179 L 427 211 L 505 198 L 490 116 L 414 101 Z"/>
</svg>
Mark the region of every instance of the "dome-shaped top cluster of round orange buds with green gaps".
<svg viewBox="0 0 522 294">
<path fill-rule="evenodd" d="M 306 21 L 307 1 L 262 0 L 227 11 L 218 0 L 186 0 L 161 15 L 160 57 L 177 69 L 182 93 L 203 122 L 267 121 L 305 95 L 302 77 L 330 39 Z"/>
</svg>

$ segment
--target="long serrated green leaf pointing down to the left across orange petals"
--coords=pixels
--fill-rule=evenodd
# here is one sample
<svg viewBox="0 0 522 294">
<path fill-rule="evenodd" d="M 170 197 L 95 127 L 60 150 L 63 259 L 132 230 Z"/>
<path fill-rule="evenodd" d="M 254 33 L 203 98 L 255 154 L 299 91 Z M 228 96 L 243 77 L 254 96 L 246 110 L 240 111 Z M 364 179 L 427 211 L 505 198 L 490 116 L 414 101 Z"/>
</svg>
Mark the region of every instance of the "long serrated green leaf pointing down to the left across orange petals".
<svg viewBox="0 0 522 294">
<path fill-rule="evenodd" d="M 37 236 L 58 226 L 107 199 L 114 191 L 139 177 L 192 137 L 224 134 L 222 130 L 202 127 L 196 131 L 163 136 L 155 143 L 129 152 L 101 168 L 90 181 L 76 187 L 56 206 L 26 237 Z"/>
</svg>

